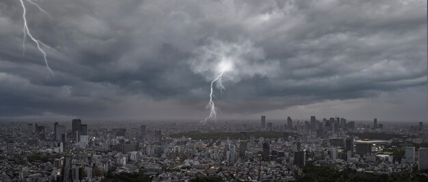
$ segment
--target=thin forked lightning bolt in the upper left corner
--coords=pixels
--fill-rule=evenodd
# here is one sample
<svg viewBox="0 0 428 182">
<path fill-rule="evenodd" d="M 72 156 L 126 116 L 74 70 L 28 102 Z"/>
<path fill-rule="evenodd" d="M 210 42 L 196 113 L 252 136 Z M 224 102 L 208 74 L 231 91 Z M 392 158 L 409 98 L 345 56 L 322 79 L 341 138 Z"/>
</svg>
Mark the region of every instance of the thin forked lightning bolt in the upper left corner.
<svg viewBox="0 0 428 182">
<path fill-rule="evenodd" d="M 49 72 L 53 75 L 53 71 L 51 70 L 51 67 L 49 67 L 49 63 L 48 60 L 46 59 L 46 52 L 44 52 L 44 50 L 41 48 L 41 46 L 44 46 L 46 48 L 49 48 L 51 50 L 54 50 L 55 52 L 57 52 L 54 48 L 51 48 L 50 46 L 44 44 L 43 42 L 41 42 L 40 40 L 37 40 L 33 35 L 31 35 L 28 25 L 27 25 L 27 8 L 25 7 L 25 3 L 24 0 L 19 0 L 21 1 L 21 5 L 23 7 L 23 20 L 24 20 L 24 37 L 23 37 L 23 54 L 25 52 L 25 39 L 27 38 L 27 35 L 30 37 L 30 39 L 36 43 L 38 50 L 40 50 L 40 52 L 42 52 L 43 55 L 43 59 L 44 59 L 44 63 L 46 64 L 46 68 L 49 70 Z M 40 5 L 38 5 L 37 3 L 34 3 L 31 0 L 27 0 L 29 3 L 31 3 L 32 5 L 36 5 L 36 7 L 38 7 L 38 9 L 43 12 L 44 14 L 48 14 L 49 17 L 51 17 L 51 14 L 49 14 L 48 12 L 46 12 L 45 10 L 42 9 L 42 7 L 40 7 Z M 41 45 L 41 46 L 40 46 Z"/>
</svg>

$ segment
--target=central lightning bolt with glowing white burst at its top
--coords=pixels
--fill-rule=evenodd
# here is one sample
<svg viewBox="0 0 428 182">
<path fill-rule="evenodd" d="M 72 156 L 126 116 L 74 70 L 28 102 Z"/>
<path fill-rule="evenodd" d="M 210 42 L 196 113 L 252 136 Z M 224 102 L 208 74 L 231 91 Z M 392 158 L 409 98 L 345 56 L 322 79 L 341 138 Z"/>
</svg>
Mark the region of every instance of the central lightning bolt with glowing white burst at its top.
<svg viewBox="0 0 428 182">
<path fill-rule="evenodd" d="M 217 108 L 215 107 L 215 104 L 213 102 L 213 85 L 214 82 L 218 83 L 219 86 L 219 90 L 222 91 L 224 89 L 224 86 L 222 84 L 222 77 L 224 72 L 228 72 L 230 70 L 232 70 L 233 65 L 232 63 L 228 60 L 228 59 L 223 59 L 222 62 L 219 63 L 219 65 L 217 66 L 217 72 L 219 72 L 219 75 L 217 76 L 217 78 L 215 78 L 213 81 L 211 81 L 211 90 L 210 90 L 210 94 L 209 94 L 209 102 L 208 104 L 206 104 L 206 108 L 208 108 L 210 110 L 209 116 L 206 117 L 204 120 L 201 121 L 202 124 L 205 124 L 206 121 L 208 121 L 209 119 L 213 119 L 214 121 L 217 122 Z"/>
</svg>

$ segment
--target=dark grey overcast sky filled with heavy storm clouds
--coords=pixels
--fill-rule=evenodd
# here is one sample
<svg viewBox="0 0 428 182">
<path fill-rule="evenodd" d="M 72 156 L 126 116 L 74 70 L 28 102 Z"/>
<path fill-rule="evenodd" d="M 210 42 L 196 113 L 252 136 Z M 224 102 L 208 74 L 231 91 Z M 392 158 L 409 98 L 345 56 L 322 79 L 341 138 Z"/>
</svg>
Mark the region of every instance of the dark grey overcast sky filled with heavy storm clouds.
<svg viewBox="0 0 428 182">
<path fill-rule="evenodd" d="M 427 120 L 427 1 L 0 1 L 0 118 Z M 218 85 L 217 85 L 218 86 Z"/>
</svg>

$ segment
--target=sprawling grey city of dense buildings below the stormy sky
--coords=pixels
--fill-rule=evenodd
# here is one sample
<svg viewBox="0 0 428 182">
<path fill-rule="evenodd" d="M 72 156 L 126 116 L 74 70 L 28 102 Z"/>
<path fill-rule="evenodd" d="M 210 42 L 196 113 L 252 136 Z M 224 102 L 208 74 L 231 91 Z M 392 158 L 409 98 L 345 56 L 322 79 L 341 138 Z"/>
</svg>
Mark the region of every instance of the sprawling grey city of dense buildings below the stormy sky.
<svg viewBox="0 0 428 182">
<path fill-rule="evenodd" d="M 428 180 L 424 122 L 2 122 L 0 142 L 0 181 Z"/>
</svg>

